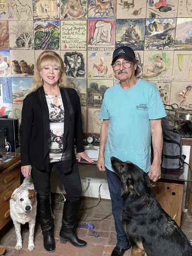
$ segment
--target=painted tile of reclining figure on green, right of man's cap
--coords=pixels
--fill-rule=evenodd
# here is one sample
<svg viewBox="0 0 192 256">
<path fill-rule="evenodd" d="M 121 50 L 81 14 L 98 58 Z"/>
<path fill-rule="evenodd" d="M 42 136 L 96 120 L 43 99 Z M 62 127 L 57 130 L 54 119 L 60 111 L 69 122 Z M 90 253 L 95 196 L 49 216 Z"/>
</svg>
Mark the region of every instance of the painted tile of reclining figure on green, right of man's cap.
<svg viewBox="0 0 192 256">
<path fill-rule="evenodd" d="M 145 51 L 143 79 L 170 81 L 173 67 L 173 51 Z"/>
</svg>

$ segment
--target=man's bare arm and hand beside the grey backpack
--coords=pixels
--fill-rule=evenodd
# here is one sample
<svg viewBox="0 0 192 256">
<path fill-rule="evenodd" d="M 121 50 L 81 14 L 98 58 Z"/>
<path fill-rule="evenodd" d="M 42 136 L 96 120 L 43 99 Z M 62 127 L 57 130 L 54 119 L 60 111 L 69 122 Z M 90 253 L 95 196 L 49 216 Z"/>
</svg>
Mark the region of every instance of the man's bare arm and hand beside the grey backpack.
<svg viewBox="0 0 192 256">
<path fill-rule="evenodd" d="M 162 127 L 161 127 L 161 118 L 150 120 L 150 123 L 151 123 L 154 159 L 149 169 L 148 176 L 151 181 L 156 182 L 161 177 L 161 154 L 163 149 L 163 134 L 162 134 Z"/>
</svg>

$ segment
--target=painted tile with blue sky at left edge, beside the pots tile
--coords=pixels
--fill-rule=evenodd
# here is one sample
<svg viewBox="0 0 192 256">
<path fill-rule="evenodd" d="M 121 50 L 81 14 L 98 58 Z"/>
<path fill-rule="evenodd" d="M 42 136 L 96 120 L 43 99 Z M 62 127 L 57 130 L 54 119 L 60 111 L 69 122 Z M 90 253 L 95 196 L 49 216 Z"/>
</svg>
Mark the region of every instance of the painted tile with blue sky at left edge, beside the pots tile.
<svg viewBox="0 0 192 256">
<path fill-rule="evenodd" d="M 0 76 L 11 76 L 10 51 L 0 49 Z"/>
</svg>

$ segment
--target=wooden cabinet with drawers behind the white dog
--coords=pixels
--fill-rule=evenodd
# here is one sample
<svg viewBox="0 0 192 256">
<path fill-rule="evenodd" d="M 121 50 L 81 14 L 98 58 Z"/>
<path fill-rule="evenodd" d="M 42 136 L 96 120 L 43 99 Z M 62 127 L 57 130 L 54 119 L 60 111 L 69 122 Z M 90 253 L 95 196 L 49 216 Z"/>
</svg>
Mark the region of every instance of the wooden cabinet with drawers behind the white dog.
<svg viewBox="0 0 192 256">
<path fill-rule="evenodd" d="M 0 230 L 11 219 L 10 197 L 12 192 L 20 186 L 20 154 L 12 154 L 16 154 L 16 157 L 0 166 Z"/>
</svg>

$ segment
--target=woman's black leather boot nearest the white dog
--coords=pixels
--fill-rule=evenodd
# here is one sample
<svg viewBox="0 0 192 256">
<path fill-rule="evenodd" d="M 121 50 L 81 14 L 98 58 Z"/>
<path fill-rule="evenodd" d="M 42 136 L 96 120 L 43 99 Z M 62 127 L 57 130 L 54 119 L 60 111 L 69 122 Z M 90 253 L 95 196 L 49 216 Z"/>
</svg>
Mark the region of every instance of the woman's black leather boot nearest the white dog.
<svg viewBox="0 0 192 256">
<path fill-rule="evenodd" d="M 37 195 L 37 216 L 43 233 L 43 244 L 49 253 L 55 251 L 55 240 L 53 235 L 53 218 L 49 196 L 39 198 Z"/>
</svg>

